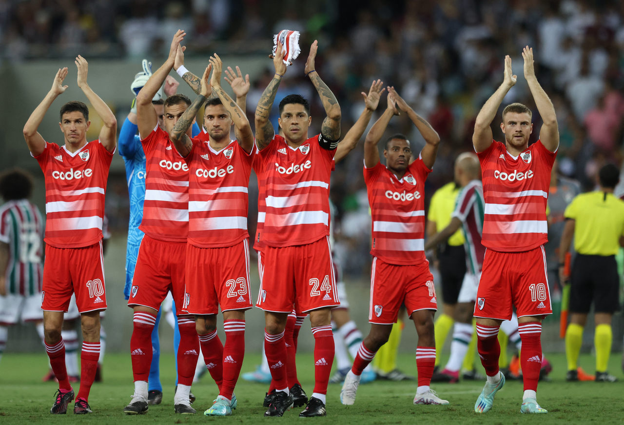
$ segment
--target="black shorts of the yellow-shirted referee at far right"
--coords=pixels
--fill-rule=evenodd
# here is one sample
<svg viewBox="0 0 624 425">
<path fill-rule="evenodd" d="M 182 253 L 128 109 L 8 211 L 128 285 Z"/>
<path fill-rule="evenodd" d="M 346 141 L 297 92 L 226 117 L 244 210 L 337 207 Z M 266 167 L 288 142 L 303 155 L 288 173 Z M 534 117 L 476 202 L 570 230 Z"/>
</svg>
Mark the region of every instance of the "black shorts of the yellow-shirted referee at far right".
<svg viewBox="0 0 624 425">
<path fill-rule="evenodd" d="M 615 256 L 577 254 L 570 276 L 569 311 L 613 313 L 620 309 L 620 278 Z"/>
</svg>

